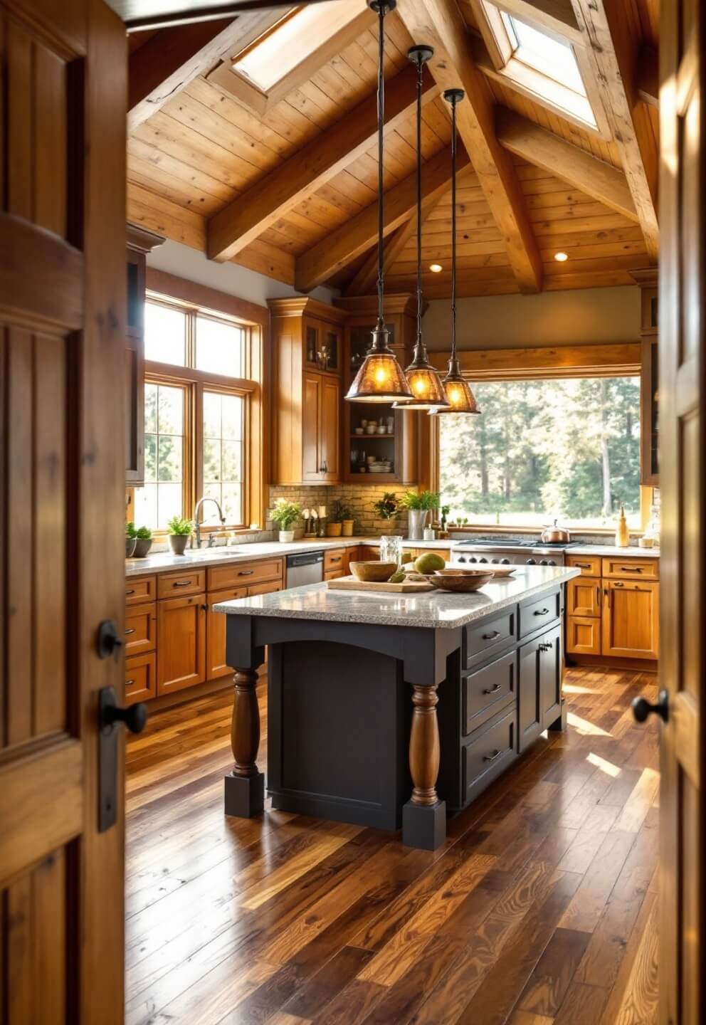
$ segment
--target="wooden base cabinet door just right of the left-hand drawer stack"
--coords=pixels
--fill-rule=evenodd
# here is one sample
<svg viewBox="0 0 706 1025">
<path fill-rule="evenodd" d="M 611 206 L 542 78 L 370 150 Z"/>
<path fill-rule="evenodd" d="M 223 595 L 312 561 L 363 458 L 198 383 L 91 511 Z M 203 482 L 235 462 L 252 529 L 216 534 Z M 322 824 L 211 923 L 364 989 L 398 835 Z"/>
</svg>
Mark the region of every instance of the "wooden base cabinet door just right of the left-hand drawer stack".
<svg viewBox="0 0 706 1025">
<path fill-rule="evenodd" d="M 206 679 L 206 609 L 205 594 L 158 602 L 158 695 Z"/>
</svg>

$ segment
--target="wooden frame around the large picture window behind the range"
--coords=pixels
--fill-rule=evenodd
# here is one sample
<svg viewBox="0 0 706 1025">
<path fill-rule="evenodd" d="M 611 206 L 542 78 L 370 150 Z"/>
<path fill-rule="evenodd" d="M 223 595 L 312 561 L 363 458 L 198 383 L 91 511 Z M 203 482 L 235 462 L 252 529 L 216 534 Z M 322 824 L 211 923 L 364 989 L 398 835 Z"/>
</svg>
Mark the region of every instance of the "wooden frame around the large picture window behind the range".
<svg viewBox="0 0 706 1025">
<path fill-rule="evenodd" d="M 449 353 L 429 353 L 429 362 L 444 371 Z M 550 348 L 487 348 L 461 351 L 458 354 L 464 377 L 471 384 L 485 381 L 555 380 L 567 377 L 640 377 L 641 352 L 639 342 L 618 342 L 598 345 L 556 345 Z M 482 414 L 483 415 L 483 414 Z M 440 433 L 438 416 L 422 418 L 423 433 L 419 451 L 419 487 L 440 491 Z M 640 423 L 641 427 L 641 423 Z M 636 536 L 647 529 L 653 504 L 653 489 L 639 488 L 639 529 L 631 528 Z M 536 534 L 536 527 L 500 527 L 494 523 L 473 524 L 456 528 L 455 533 Z M 596 534 L 611 537 L 612 527 L 575 527 L 573 535 Z"/>
</svg>

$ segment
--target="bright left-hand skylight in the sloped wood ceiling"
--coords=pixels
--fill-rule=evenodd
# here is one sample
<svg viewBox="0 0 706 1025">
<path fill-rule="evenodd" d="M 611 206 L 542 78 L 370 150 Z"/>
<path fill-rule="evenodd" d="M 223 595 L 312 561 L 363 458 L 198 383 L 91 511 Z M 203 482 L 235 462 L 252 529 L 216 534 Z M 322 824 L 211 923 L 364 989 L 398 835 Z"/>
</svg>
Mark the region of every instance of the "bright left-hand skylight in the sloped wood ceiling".
<svg viewBox="0 0 706 1025">
<path fill-rule="evenodd" d="M 365 10 L 365 0 L 323 0 L 287 14 L 233 64 L 249 82 L 266 93 L 322 42 L 344 29 Z"/>
</svg>

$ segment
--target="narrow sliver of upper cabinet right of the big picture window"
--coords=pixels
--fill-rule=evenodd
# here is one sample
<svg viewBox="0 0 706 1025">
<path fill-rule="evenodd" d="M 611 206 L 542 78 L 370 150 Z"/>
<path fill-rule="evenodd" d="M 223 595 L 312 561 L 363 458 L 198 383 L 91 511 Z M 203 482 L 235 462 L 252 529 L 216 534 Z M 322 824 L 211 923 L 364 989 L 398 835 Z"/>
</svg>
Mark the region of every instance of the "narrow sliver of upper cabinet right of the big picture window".
<svg viewBox="0 0 706 1025">
<path fill-rule="evenodd" d="M 659 321 L 657 270 L 633 271 L 641 291 L 640 483 L 657 488 L 659 467 Z"/>
</svg>

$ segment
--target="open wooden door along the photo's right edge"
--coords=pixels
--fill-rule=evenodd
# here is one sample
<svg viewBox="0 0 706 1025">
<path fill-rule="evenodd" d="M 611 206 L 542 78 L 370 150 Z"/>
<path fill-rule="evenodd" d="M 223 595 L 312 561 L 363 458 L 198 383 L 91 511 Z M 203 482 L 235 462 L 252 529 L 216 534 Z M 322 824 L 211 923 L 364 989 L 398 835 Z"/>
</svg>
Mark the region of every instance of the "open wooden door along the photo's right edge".
<svg viewBox="0 0 706 1025">
<path fill-rule="evenodd" d="M 706 309 L 703 4 L 660 5 L 660 1022 L 704 1020 Z"/>
</svg>

